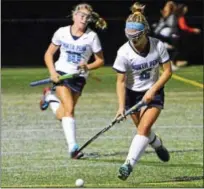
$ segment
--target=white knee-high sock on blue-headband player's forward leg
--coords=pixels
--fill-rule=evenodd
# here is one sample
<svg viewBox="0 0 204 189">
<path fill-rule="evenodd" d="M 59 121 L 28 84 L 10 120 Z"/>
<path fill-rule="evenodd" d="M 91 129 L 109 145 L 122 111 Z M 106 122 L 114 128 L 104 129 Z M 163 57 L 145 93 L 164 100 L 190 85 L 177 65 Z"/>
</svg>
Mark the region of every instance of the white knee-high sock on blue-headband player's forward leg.
<svg viewBox="0 0 204 189">
<path fill-rule="evenodd" d="M 133 167 L 144 153 L 147 145 L 149 144 L 149 138 L 143 135 L 135 135 L 129 148 L 129 153 L 126 158 L 126 163 L 130 163 Z"/>
</svg>

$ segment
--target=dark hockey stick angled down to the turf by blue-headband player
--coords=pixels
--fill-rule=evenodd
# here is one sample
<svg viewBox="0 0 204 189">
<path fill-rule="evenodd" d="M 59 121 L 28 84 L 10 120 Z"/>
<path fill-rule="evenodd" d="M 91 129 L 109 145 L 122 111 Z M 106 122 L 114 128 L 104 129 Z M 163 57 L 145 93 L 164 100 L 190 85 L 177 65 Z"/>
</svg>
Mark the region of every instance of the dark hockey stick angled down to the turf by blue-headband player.
<svg viewBox="0 0 204 189">
<path fill-rule="evenodd" d="M 102 129 L 101 131 L 99 131 L 96 135 L 94 135 L 91 139 L 89 139 L 83 146 L 81 146 L 81 148 L 76 152 L 75 157 L 77 157 L 78 153 L 81 152 L 85 147 L 87 147 L 91 142 L 93 142 L 95 139 L 97 139 L 101 134 L 105 133 L 106 131 L 108 131 L 111 127 L 113 127 L 116 123 L 119 123 L 120 121 L 122 121 L 124 119 L 124 117 L 130 115 L 133 111 L 138 110 L 139 108 L 141 108 L 142 106 L 146 105 L 145 102 L 140 101 L 138 102 L 136 105 L 134 105 L 133 107 L 131 107 L 129 110 L 127 110 L 124 114 L 124 116 L 120 116 L 118 118 L 115 118 L 107 127 L 105 127 L 104 129 Z"/>
</svg>

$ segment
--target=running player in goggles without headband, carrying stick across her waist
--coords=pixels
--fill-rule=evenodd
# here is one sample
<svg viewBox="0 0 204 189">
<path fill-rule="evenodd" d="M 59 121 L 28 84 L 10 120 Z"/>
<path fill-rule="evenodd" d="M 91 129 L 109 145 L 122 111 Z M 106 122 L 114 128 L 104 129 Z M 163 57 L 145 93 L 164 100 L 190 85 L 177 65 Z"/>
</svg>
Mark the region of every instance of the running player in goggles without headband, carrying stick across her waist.
<svg viewBox="0 0 204 189">
<path fill-rule="evenodd" d="M 86 84 L 88 71 L 104 64 L 98 35 L 88 25 L 92 22 L 96 27 L 105 29 L 107 24 L 86 3 L 78 4 L 75 7 L 72 11 L 72 19 L 72 25 L 60 27 L 54 33 L 52 42 L 45 53 L 45 64 L 54 83 L 56 95 L 50 88 L 45 88 L 40 108 L 46 110 L 50 106 L 56 118 L 61 120 L 70 157 L 79 159 L 83 153 L 77 153 L 79 145 L 76 141 L 74 109 Z M 54 63 L 54 54 L 59 49 L 59 59 Z M 87 64 L 92 54 L 94 54 L 94 62 Z M 78 73 L 79 69 L 85 72 L 77 78 L 59 82 L 60 75 Z"/>
</svg>

